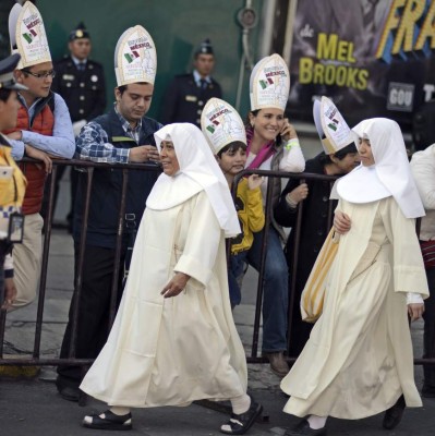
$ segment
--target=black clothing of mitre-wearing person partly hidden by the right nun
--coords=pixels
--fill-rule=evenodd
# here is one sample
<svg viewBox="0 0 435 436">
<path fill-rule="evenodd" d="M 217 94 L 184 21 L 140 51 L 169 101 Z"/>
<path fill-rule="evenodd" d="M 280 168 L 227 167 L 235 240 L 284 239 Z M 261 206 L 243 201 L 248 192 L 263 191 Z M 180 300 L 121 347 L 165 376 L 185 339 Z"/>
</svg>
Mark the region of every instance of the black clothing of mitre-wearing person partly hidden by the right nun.
<svg viewBox="0 0 435 436">
<path fill-rule="evenodd" d="M 306 161 L 305 172 L 325 174 L 324 165 L 321 162 L 321 155 Z M 293 255 L 295 250 L 293 231 L 290 232 L 286 245 L 290 277 L 293 274 L 297 275 L 290 336 L 290 355 L 298 355 L 310 337 L 312 325 L 304 323 L 301 319 L 300 300 L 302 290 L 305 287 L 305 282 L 317 258 L 318 252 L 329 232 L 327 217 L 329 209 L 330 182 L 314 180 L 305 180 L 305 182 L 309 185 L 309 196 L 303 202 L 297 271 L 294 271 L 293 267 Z M 278 205 L 275 207 L 275 219 L 283 227 L 295 228 L 298 209 L 292 209 L 288 205 L 286 195 L 299 184 L 299 180 L 290 179 L 282 191 Z M 336 205 L 337 202 L 334 202 L 333 210 Z"/>
</svg>

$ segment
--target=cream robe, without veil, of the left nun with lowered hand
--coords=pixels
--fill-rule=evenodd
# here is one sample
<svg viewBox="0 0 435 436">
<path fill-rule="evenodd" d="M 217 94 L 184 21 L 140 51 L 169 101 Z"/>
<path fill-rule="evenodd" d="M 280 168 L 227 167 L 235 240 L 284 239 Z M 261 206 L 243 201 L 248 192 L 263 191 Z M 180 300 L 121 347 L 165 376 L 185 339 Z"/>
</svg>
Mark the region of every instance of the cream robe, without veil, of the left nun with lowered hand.
<svg viewBox="0 0 435 436">
<path fill-rule="evenodd" d="M 174 271 L 191 276 L 160 295 Z M 204 191 L 147 207 L 121 305 L 81 389 L 110 405 L 181 405 L 246 392 L 243 346 L 228 293 L 223 231 Z"/>
</svg>

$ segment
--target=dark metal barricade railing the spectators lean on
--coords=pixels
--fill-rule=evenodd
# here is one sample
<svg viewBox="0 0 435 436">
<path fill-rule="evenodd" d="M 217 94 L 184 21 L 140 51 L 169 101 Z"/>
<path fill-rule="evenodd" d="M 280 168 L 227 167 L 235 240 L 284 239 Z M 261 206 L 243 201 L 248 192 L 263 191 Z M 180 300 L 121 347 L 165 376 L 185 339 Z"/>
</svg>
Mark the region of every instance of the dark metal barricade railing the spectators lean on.
<svg viewBox="0 0 435 436">
<path fill-rule="evenodd" d="M 28 159 L 32 161 L 31 159 Z M 45 307 L 45 298 L 46 298 L 46 287 L 47 287 L 47 267 L 49 259 L 49 250 L 50 250 L 50 239 L 51 239 L 51 228 L 52 228 L 52 217 L 53 217 L 53 201 L 55 201 L 55 185 L 56 185 L 56 174 L 59 166 L 70 166 L 70 167 L 78 167 L 87 174 L 87 186 L 83 209 L 83 222 L 82 222 L 82 232 L 81 232 L 81 241 L 78 244 L 78 255 L 77 255 L 77 265 L 75 267 L 74 272 L 74 293 L 73 293 L 73 325 L 72 325 L 72 338 L 71 338 L 71 347 L 69 350 L 68 359 L 52 358 L 52 359 L 44 359 L 40 356 L 40 344 L 41 344 L 41 335 L 43 335 L 43 325 L 44 325 L 44 307 Z M 86 160 L 53 160 L 52 174 L 49 181 L 49 190 L 48 190 L 48 208 L 47 216 L 45 220 L 45 232 L 44 232 L 44 249 L 43 249 L 43 262 L 41 262 L 41 272 L 39 279 L 39 289 L 37 295 L 37 312 L 35 319 L 35 338 L 34 338 L 34 347 L 32 351 L 32 356 L 23 359 L 20 358 L 4 358 L 3 356 L 3 343 L 4 343 L 4 332 L 5 332 L 5 320 L 7 320 L 7 312 L 2 310 L 0 312 L 0 365 L 37 365 L 37 366 L 60 366 L 60 365 L 83 365 L 84 367 L 89 366 L 93 362 L 93 359 L 76 359 L 75 358 L 75 338 L 77 330 L 77 322 L 78 322 L 78 302 L 80 302 L 80 293 L 82 291 L 83 283 L 83 258 L 86 246 L 86 231 L 87 231 L 87 221 L 88 221 L 88 211 L 89 211 L 89 202 L 90 202 L 90 192 L 92 192 L 92 182 L 94 170 L 98 168 L 104 169 L 113 169 L 122 171 L 122 195 L 121 203 L 119 205 L 119 215 L 118 215 L 118 228 L 117 228 L 117 243 L 114 251 L 114 270 L 113 270 L 113 279 L 111 286 L 111 303 L 110 303 L 110 326 L 114 319 L 116 311 L 117 311 L 117 293 L 118 293 L 118 283 L 119 283 L 119 274 L 121 271 L 120 258 L 121 258 L 121 249 L 122 249 L 122 235 L 124 230 L 124 211 L 125 211 L 125 194 L 126 186 L 129 181 L 129 170 L 143 170 L 143 171 L 159 171 L 154 165 L 144 165 L 144 164 L 97 164 Z M 324 183 L 325 181 L 329 182 L 330 187 L 333 186 L 336 177 L 323 175 L 323 174 L 313 174 L 313 173 L 288 173 L 280 171 L 265 171 L 265 170 L 244 170 L 234 180 L 234 187 L 232 194 L 235 194 L 237 183 L 241 180 L 242 177 L 256 173 L 262 177 L 267 178 L 279 178 L 279 179 L 297 179 L 302 183 L 305 180 L 311 180 L 314 183 Z M 268 183 L 267 185 L 267 195 L 265 201 L 265 228 L 263 231 L 263 240 L 262 240 L 262 255 L 261 255 L 261 264 L 258 269 L 258 278 L 257 278 L 257 290 L 256 290 L 256 302 L 255 302 L 255 312 L 254 312 L 254 323 L 253 323 L 253 332 L 252 332 L 252 342 L 251 342 L 251 353 L 246 355 L 246 360 L 249 363 L 266 363 L 268 362 L 266 358 L 258 355 L 258 342 L 259 342 L 259 329 L 261 329 L 261 315 L 262 315 L 262 303 L 263 303 L 263 288 L 264 288 L 264 268 L 265 268 L 265 259 L 266 259 L 266 244 L 268 239 L 268 230 L 270 226 L 270 217 L 273 214 L 273 184 Z M 329 199 L 329 209 L 327 217 L 325 218 L 325 231 L 330 229 L 333 222 L 333 201 Z M 291 229 L 294 232 L 294 250 L 292 255 L 292 274 L 289 277 L 289 308 L 288 308 L 288 337 L 290 338 L 291 334 L 291 324 L 292 324 L 292 313 L 294 304 L 299 304 L 299 302 L 294 301 L 294 288 L 295 280 L 298 274 L 298 262 L 299 262 L 299 247 L 303 243 L 300 238 L 301 226 L 303 220 L 303 209 L 301 207 L 298 208 L 297 211 L 297 225 L 294 229 Z M 67 323 L 68 319 L 65 319 Z M 288 362 L 294 362 L 297 356 L 288 356 Z M 414 364 L 435 364 L 435 359 L 414 359 Z"/>
</svg>

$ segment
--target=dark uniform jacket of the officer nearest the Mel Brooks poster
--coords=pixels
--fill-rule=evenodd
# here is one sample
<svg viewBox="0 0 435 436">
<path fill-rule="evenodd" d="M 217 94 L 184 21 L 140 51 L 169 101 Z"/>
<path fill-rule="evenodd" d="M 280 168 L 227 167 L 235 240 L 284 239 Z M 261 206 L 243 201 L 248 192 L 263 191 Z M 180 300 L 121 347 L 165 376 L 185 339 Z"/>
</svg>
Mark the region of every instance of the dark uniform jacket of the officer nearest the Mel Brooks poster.
<svg viewBox="0 0 435 436">
<path fill-rule="evenodd" d="M 165 94 L 161 122 L 190 122 L 201 128 L 201 112 L 212 97 L 222 98 L 215 80 L 203 89 L 196 85 L 192 73 L 177 75 Z"/>
</svg>

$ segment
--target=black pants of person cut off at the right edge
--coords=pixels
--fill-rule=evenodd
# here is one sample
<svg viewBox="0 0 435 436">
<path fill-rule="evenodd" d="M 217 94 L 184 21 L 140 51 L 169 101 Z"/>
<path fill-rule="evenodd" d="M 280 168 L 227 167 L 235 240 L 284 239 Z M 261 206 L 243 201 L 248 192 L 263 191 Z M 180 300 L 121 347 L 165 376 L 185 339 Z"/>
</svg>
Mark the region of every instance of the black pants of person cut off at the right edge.
<svg viewBox="0 0 435 436">
<path fill-rule="evenodd" d="M 426 269 L 430 298 L 424 300 L 423 358 L 435 358 L 435 268 Z M 435 365 L 423 365 L 424 386 L 435 389 Z"/>
</svg>

